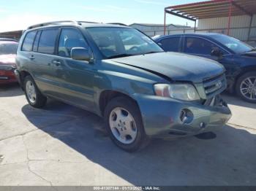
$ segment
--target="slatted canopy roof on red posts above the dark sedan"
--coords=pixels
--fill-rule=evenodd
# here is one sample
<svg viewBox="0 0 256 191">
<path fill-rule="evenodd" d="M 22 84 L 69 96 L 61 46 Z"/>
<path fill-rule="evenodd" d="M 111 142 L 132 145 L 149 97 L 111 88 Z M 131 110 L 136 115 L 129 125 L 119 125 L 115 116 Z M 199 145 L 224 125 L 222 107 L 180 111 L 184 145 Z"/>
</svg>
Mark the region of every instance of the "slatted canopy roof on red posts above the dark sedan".
<svg viewBox="0 0 256 191">
<path fill-rule="evenodd" d="M 255 0 L 212 0 L 192 4 L 181 4 L 165 8 L 165 12 L 190 20 L 256 14 Z"/>
</svg>

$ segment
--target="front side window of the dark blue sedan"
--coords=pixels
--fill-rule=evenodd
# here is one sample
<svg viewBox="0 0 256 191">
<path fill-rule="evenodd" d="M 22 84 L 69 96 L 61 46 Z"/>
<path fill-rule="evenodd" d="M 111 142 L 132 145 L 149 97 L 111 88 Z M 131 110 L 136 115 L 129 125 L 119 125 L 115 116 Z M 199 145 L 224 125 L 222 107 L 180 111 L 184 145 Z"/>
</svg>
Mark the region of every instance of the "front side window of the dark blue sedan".
<svg viewBox="0 0 256 191">
<path fill-rule="evenodd" d="M 211 55 L 211 51 L 219 49 L 216 44 L 206 39 L 187 37 L 185 41 L 185 52 L 197 55 Z"/>
</svg>

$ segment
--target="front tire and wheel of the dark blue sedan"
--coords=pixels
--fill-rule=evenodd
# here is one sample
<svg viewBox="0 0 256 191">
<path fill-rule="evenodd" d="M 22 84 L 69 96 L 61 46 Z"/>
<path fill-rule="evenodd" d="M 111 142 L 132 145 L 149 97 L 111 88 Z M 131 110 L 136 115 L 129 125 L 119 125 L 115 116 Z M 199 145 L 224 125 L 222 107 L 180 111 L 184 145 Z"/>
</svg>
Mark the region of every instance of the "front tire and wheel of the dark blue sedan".
<svg viewBox="0 0 256 191">
<path fill-rule="evenodd" d="M 246 93 L 249 90 L 247 87 L 249 87 L 250 82 L 252 82 L 252 91 L 249 91 L 251 93 Z M 244 101 L 256 104 L 256 71 L 247 72 L 238 78 L 236 82 L 236 94 L 244 99 Z"/>
</svg>

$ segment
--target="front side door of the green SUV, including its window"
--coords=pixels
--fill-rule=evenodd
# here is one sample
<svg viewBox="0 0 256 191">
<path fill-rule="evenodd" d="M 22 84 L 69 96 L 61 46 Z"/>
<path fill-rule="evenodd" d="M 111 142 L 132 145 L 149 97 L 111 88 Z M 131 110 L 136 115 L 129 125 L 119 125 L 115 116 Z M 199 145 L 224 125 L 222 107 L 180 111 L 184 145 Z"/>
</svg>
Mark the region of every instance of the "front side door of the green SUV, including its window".
<svg viewBox="0 0 256 191">
<path fill-rule="evenodd" d="M 83 107 L 94 108 L 94 65 L 71 58 L 73 47 L 89 49 L 83 34 L 77 28 L 61 28 L 58 56 L 53 63 L 59 95 L 64 101 Z"/>
</svg>

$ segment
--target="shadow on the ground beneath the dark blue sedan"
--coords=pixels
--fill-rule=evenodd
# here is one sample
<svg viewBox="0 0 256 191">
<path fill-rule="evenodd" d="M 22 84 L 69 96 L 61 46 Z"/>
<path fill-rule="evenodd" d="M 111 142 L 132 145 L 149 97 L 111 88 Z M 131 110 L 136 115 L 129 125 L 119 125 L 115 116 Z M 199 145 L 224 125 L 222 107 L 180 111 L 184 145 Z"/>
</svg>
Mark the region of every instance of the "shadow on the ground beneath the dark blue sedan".
<svg viewBox="0 0 256 191">
<path fill-rule="evenodd" d="M 237 95 L 232 95 L 230 93 L 223 93 L 222 98 L 225 101 L 227 101 L 227 104 L 230 104 L 230 105 L 242 106 L 242 107 L 248 107 L 248 108 L 256 109 L 256 104 L 246 102 L 246 101 L 242 100 L 241 98 L 238 98 Z"/>
</svg>

